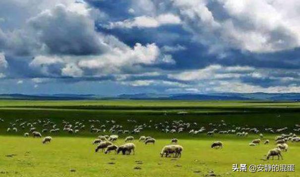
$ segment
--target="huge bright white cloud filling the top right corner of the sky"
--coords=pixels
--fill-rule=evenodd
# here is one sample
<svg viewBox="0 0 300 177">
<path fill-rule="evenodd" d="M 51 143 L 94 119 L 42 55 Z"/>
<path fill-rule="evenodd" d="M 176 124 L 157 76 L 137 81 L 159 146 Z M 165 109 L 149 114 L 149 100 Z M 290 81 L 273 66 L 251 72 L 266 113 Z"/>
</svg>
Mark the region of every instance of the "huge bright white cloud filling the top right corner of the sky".
<svg viewBox="0 0 300 177">
<path fill-rule="evenodd" d="M 208 0 L 174 0 L 186 30 L 211 52 L 236 48 L 272 52 L 300 46 L 299 0 L 217 0 L 221 11 L 208 8 Z M 223 18 L 215 18 L 217 14 Z"/>
</svg>

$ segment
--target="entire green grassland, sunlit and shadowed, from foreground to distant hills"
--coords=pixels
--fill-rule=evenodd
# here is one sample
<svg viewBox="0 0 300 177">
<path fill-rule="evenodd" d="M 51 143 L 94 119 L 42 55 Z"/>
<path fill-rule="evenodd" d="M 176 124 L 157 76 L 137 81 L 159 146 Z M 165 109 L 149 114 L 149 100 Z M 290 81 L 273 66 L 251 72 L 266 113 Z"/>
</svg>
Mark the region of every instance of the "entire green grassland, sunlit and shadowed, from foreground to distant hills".
<svg viewBox="0 0 300 177">
<path fill-rule="evenodd" d="M 178 114 L 184 111 L 184 114 Z M 78 134 L 60 131 L 51 135 L 53 141 L 42 144 L 42 139 L 28 137 L 23 133 L 28 129 L 18 128 L 17 133 L 6 132 L 10 122 L 16 119 L 35 121 L 50 119 L 61 126 L 62 120 L 69 122 L 89 119 L 115 120 L 125 129 L 132 128 L 127 119 L 137 123 L 155 123 L 164 121 L 196 122 L 197 127 L 204 126 L 207 131 L 209 123 L 219 124 L 224 120 L 228 125 L 236 125 L 259 130 L 264 128 L 288 127 L 285 133 L 292 132 L 295 124 L 300 124 L 300 103 L 294 102 L 242 102 L 242 101 L 143 101 L 143 100 L 99 100 L 99 101 L 24 101 L 0 100 L 0 176 L 22 177 L 199 177 L 209 176 L 213 171 L 217 176 L 228 177 L 297 177 L 300 176 L 300 143 L 289 142 L 288 152 L 283 152 L 284 160 L 264 160 L 269 149 L 275 147 L 274 137 L 280 133 L 264 133 L 264 139 L 270 139 L 268 145 L 255 147 L 248 143 L 258 138 L 250 133 L 248 137 L 235 134 L 206 133 L 190 135 L 184 133 L 162 133 L 153 128 L 145 128 L 142 133 L 156 138 L 155 145 L 145 145 L 135 140 L 135 155 L 115 155 L 114 152 L 95 153 L 93 139 L 100 134 L 89 130 Z M 61 127 L 59 127 L 61 128 Z M 41 131 L 42 127 L 37 127 Z M 207 132 L 206 131 L 206 132 Z M 124 143 L 120 135 L 117 144 Z M 181 158 L 161 158 L 159 153 L 163 146 L 170 144 L 171 138 L 179 139 L 183 146 Z M 222 149 L 212 149 L 213 141 L 221 140 Z M 277 157 L 275 157 L 277 159 Z M 233 164 L 273 165 L 294 164 L 296 172 L 232 172 Z M 140 167 L 140 169 L 136 169 Z M 71 172 L 71 169 L 75 172 Z"/>
</svg>

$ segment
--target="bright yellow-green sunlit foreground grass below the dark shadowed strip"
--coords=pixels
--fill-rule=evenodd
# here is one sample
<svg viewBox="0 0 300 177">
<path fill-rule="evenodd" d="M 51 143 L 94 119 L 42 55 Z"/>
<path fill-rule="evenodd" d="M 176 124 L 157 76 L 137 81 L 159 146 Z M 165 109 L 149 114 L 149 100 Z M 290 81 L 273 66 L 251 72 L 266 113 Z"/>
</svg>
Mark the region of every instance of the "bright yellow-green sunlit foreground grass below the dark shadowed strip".
<svg viewBox="0 0 300 177">
<path fill-rule="evenodd" d="M 272 136 L 269 136 L 271 138 Z M 50 177 L 50 176 L 80 176 L 80 177 L 193 177 L 209 174 L 214 171 L 216 175 L 228 177 L 240 176 L 290 176 L 292 172 L 277 173 L 249 173 L 232 172 L 233 164 L 295 164 L 296 172 L 300 170 L 298 156 L 299 144 L 290 145 L 290 151 L 283 154 L 284 160 L 263 161 L 264 154 L 274 147 L 274 144 L 248 146 L 248 142 L 254 138 L 224 138 L 201 137 L 195 139 L 180 139 L 184 147 L 182 157 L 161 158 L 161 148 L 170 142 L 170 139 L 158 139 L 155 145 L 144 145 L 135 142 L 135 155 L 123 156 L 103 153 L 95 153 L 91 144 L 92 138 L 88 137 L 54 137 L 52 143 L 43 145 L 41 139 L 23 138 L 16 136 L 0 136 L 0 175 L 23 177 Z M 223 149 L 211 149 L 210 144 L 214 140 L 222 140 Z M 119 144 L 123 143 L 120 139 Z M 20 146 L 21 145 L 21 146 Z M 27 152 L 27 153 L 26 153 Z M 13 157 L 6 155 L 15 154 Z M 137 164 L 135 161 L 142 161 Z M 109 164 L 113 162 L 114 164 Z M 135 167 L 141 167 L 135 170 Z M 75 172 L 70 172 L 74 169 Z M 197 173 L 195 173 L 197 172 Z M 3 174 L 2 174 L 3 175 Z"/>
</svg>

